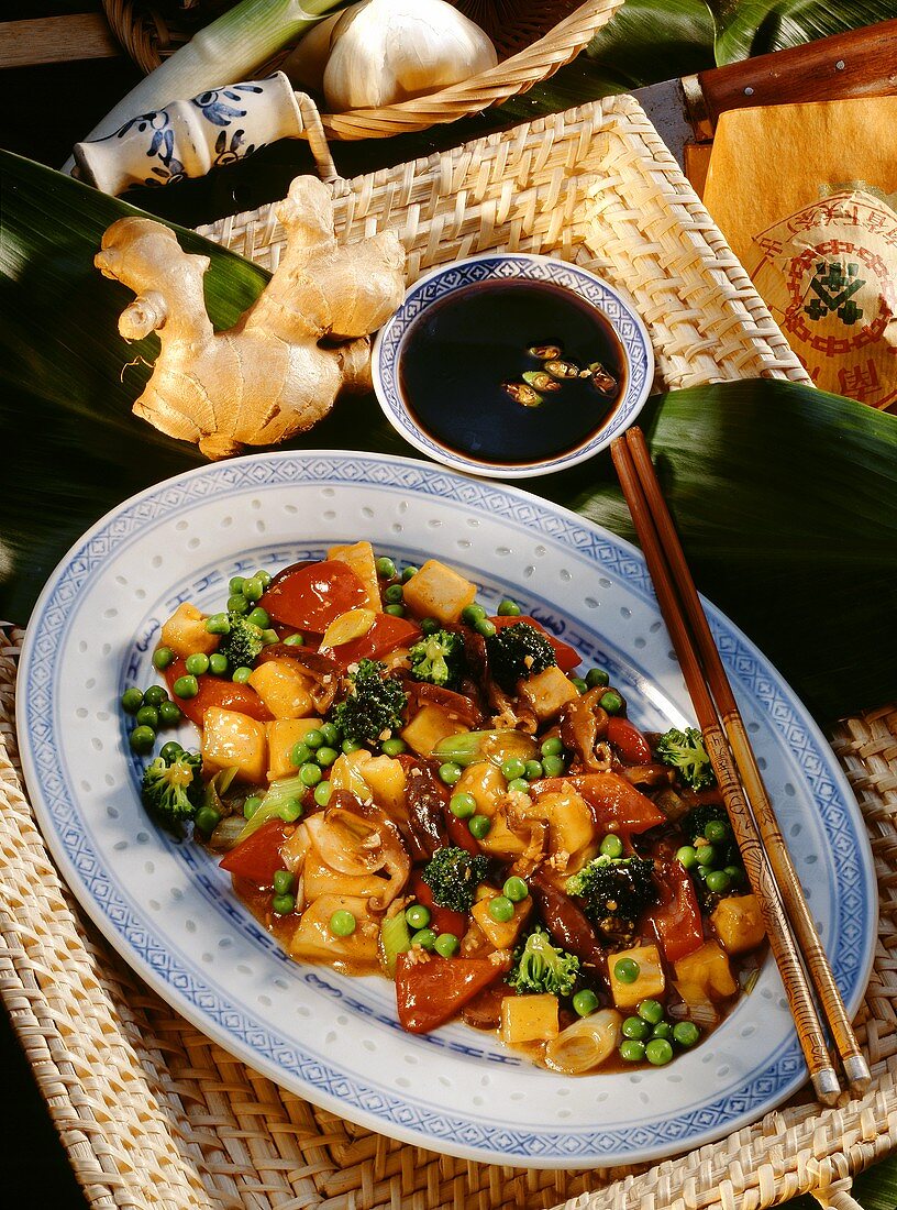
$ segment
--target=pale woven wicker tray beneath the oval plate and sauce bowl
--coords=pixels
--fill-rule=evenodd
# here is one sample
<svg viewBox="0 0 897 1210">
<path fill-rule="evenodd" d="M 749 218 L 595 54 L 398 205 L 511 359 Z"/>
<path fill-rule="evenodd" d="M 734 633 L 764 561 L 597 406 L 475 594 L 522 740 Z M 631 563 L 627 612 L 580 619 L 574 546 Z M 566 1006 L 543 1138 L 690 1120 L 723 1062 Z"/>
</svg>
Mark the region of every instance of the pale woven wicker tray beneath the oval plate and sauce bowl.
<svg viewBox="0 0 897 1210">
<path fill-rule="evenodd" d="M 806 381 L 631 99 L 341 185 L 341 237 L 395 227 L 411 277 L 497 248 L 596 269 L 635 296 L 665 385 Z M 271 208 L 207 234 L 268 267 L 282 248 Z M 879 881 L 858 1020 L 869 1091 L 824 1111 L 797 1097 L 653 1166 L 520 1170 L 406 1146 L 316 1108 L 198 1033 L 110 951 L 60 885 L 22 790 L 19 643 L 0 633 L 0 992 L 96 1210 L 762 1210 L 804 1192 L 858 1210 L 851 1175 L 897 1146 L 897 710 L 850 719 L 832 737 Z"/>
</svg>

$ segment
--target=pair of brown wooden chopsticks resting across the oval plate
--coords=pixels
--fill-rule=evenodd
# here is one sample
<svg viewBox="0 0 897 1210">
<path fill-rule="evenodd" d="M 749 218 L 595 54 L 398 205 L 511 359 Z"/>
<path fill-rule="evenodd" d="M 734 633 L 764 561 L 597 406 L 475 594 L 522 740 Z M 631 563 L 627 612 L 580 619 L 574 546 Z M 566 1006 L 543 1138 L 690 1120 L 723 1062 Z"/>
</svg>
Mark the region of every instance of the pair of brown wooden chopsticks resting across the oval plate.
<svg viewBox="0 0 897 1210">
<path fill-rule="evenodd" d="M 808 973 L 840 1055 L 847 1084 L 853 1091 L 860 1093 L 868 1087 L 869 1067 L 851 1028 L 769 801 L 641 428 L 632 427 L 625 436 L 618 437 L 610 454 L 704 733 L 733 834 L 741 849 L 745 871 L 759 903 L 814 1089 L 820 1101 L 833 1105 L 841 1089 Z"/>
</svg>

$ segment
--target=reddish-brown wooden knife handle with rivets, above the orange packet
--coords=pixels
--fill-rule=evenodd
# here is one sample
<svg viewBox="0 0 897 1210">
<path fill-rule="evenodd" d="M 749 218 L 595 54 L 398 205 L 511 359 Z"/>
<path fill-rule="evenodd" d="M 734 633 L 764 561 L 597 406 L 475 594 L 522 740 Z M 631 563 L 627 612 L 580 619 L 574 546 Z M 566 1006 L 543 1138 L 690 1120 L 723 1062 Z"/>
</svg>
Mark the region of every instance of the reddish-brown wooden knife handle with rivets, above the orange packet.
<svg viewBox="0 0 897 1210">
<path fill-rule="evenodd" d="M 897 93 L 897 19 L 711 68 L 682 81 L 699 140 L 727 109 Z"/>
</svg>

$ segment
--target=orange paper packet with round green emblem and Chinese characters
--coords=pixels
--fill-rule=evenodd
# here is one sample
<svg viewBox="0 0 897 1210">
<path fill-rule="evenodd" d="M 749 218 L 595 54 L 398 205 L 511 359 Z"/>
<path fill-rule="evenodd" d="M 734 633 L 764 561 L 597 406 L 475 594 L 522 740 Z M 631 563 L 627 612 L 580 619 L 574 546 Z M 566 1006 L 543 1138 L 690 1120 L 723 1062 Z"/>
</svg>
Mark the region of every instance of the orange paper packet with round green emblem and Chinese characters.
<svg viewBox="0 0 897 1210">
<path fill-rule="evenodd" d="M 897 410 L 897 98 L 723 116 L 705 202 L 816 386 Z"/>
</svg>

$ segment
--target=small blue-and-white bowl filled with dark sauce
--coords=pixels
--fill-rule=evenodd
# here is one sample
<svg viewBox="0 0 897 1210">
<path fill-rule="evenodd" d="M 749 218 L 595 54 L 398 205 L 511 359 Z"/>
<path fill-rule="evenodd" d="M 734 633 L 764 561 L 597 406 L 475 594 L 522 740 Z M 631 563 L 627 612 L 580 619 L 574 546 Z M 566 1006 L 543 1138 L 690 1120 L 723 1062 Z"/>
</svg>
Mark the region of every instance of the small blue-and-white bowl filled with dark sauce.
<svg viewBox="0 0 897 1210">
<path fill-rule="evenodd" d="M 561 379 L 526 407 L 521 384 L 557 346 L 584 370 L 600 362 L 612 392 Z M 555 358 L 556 361 L 557 358 Z M 550 257 L 456 260 L 415 282 L 374 344 L 374 390 L 392 426 L 423 454 L 469 474 L 522 479 L 604 449 L 648 398 L 654 353 L 644 324 L 612 286 Z"/>
</svg>

